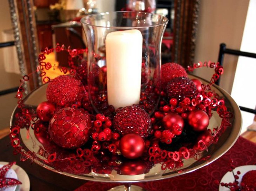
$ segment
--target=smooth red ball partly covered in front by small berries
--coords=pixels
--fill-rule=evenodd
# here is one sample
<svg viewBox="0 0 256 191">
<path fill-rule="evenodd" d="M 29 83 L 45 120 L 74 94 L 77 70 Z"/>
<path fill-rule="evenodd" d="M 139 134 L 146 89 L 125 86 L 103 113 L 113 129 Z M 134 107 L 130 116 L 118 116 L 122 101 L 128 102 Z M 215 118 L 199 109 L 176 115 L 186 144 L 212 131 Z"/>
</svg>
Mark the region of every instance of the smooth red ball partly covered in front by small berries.
<svg viewBox="0 0 256 191">
<path fill-rule="evenodd" d="M 171 129 L 173 124 L 178 124 L 182 129 L 184 127 L 184 120 L 180 115 L 176 113 L 168 113 L 163 117 L 162 123 L 164 128 Z"/>
</svg>

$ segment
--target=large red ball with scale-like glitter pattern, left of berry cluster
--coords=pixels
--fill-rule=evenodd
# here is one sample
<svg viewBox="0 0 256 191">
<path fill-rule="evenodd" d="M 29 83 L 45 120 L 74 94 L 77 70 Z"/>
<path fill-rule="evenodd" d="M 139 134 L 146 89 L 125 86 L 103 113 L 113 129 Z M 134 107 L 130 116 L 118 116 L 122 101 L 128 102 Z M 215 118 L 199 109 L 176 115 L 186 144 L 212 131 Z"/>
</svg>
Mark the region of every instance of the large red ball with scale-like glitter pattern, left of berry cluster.
<svg viewBox="0 0 256 191">
<path fill-rule="evenodd" d="M 49 123 L 50 138 L 63 148 L 78 148 L 89 139 L 91 120 L 81 109 L 63 108 Z"/>
</svg>

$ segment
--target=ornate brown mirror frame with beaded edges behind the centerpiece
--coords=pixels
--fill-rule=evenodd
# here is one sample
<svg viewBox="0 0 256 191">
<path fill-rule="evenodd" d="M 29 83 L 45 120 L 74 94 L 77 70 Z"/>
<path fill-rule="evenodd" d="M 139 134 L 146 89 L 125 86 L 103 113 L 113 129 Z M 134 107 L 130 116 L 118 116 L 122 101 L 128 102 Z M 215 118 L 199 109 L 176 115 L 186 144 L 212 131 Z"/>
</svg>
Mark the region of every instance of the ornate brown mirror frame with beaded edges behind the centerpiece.
<svg viewBox="0 0 256 191">
<path fill-rule="evenodd" d="M 174 0 L 172 60 L 183 67 L 194 61 L 199 4 L 200 0 Z M 33 0 L 9 0 L 9 6 L 21 76 L 32 74 L 24 86 L 28 93 L 42 84 L 39 72 L 34 72 L 39 65 L 40 51 Z"/>
</svg>

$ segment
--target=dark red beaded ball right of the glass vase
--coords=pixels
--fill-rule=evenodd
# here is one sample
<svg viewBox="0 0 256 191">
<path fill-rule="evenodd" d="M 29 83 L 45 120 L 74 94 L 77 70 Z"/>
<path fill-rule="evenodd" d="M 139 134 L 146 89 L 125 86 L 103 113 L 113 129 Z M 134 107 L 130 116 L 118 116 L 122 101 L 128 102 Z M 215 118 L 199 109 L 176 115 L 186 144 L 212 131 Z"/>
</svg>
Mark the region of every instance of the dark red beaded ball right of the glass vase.
<svg viewBox="0 0 256 191">
<path fill-rule="evenodd" d="M 185 97 L 194 98 L 198 94 L 198 90 L 193 81 L 186 77 L 177 77 L 166 86 L 168 98 L 176 98 L 182 101 Z"/>
</svg>

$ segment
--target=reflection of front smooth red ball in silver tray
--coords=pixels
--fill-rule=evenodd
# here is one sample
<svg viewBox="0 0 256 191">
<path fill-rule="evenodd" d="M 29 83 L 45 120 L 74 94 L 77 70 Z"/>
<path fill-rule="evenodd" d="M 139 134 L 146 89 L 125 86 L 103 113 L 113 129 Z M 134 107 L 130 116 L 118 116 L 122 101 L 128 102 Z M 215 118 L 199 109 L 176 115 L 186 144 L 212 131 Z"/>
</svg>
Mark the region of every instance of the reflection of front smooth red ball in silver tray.
<svg viewBox="0 0 256 191">
<path fill-rule="evenodd" d="M 124 161 L 120 166 L 121 175 L 141 175 L 146 170 L 146 164 L 142 161 Z"/>
</svg>

